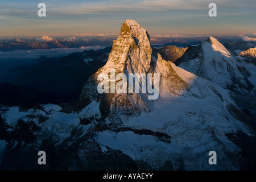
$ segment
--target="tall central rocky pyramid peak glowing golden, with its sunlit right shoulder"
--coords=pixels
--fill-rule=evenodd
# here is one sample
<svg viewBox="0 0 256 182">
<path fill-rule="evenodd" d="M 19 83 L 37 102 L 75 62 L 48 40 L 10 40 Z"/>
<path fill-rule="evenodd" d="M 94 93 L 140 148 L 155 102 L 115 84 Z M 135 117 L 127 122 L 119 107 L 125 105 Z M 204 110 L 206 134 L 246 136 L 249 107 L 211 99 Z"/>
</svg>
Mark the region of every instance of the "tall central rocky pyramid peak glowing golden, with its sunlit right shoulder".
<svg viewBox="0 0 256 182">
<path fill-rule="evenodd" d="M 89 78 L 84 89 L 82 89 L 80 104 L 81 107 L 85 107 L 93 100 L 101 100 L 105 105 L 108 103 L 109 107 L 113 108 L 113 110 L 136 110 L 139 112 L 152 110 L 152 102 L 154 101 L 148 100 L 149 93 L 142 93 L 142 86 L 139 86 L 139 93 L 137 92 L 135 94 L 128 92 L 121 94 L 97 93 L 97 85 L 101 82 L 98 76 L 102 74 L 109 76 L 113 70 L 115 71 L 115 75 L 118 73 L 126 75 L 127 85 L 130 84 L 129 76 L 131 75 L 138 74 L 148 77 L 148 74 L 150 74 L 152 80 L 155 80 L 155 74 L 158 74 L 156 77 L 159 76 L 158 93 L 160 95 L 166 95 L 168 93 L 176 95 L 183 94 L 195 78 L 195 75 L 192 73 L 177 68 L 171 61 L 162 59 L 162 56 L 151 47 L 150 36 L 147 31 L 135 20 L 126 20 L 122 24 L 121 36 L 118 36 L 113 41 L 112 52 L 109 55 L 107 63 Z M 141 77 L 137 78 L 137 80 L 139 80 L 139 84 L 137 82 L 134 85 L 142 85 Z M 115 87 L 117 84 L 118 80 L 115 80 Z M 111 84 L 107 90 L 111 90 L 110 86 Z M 102 96 L 104 96 L 105 101 L 102 100 Z"/>
</svg>

